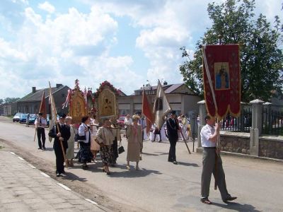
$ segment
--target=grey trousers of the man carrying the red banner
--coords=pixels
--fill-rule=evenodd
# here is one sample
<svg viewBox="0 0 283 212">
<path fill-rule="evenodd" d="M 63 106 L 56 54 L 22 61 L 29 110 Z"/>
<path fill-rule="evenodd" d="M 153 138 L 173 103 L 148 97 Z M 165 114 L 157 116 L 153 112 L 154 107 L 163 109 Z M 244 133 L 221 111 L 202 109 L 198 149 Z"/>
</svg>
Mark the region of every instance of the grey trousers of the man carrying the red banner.
<svg viewBox="0 0 283 212">
<path fill-rule="evenodd" d="M 216 177 L 216 184 L 221 193 L 222 200 L 231 196 L 226 189 L 225 173 L 222 167 L 222 160 L 220 155 L 217 156 L 217 170 L 215 170 L 215 159 L 216 149 L 215 148 L 204 148 L 203 158 L 202 158 L 202 185 L 201 185 L 201 195 L 202 198 L 208 198 L 209 196 L 209 186 L 212 179 L 212 173 L 214 178 Z M 216 173 L 217 171 L 217 173 Z"/>
</svg>

